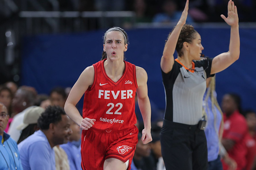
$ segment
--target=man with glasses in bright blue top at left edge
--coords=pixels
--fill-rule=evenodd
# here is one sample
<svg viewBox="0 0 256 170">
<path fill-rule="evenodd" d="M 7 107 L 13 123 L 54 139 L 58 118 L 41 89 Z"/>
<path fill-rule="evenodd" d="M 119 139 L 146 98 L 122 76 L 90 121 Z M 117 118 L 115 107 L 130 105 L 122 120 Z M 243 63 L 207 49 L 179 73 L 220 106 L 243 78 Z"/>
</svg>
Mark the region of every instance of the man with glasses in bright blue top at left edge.
<svg viewBox="0 0 256 170">
<path fill-rule="evenodd" d="M 0 102 L 0 169 L 23 170 L 17 143 L 4 132 L 8 119 L 7 108 Z"/>
</svg>

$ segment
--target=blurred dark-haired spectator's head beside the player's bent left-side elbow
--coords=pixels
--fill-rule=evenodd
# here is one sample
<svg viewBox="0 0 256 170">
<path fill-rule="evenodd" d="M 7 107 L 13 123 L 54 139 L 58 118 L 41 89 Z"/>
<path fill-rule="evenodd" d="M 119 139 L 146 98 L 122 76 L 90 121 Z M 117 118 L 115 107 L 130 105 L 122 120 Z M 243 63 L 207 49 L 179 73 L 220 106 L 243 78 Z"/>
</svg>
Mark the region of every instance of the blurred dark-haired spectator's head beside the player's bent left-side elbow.
<svg viewBox="0 0 256 170">
<path fill-rule="evenodd" d="M 65 89 L 62 87 L 53 88 L 50 93 L 50 100 L 52 105 L 64 108 L 65 102 L 67 100 Z"/>
</svg>

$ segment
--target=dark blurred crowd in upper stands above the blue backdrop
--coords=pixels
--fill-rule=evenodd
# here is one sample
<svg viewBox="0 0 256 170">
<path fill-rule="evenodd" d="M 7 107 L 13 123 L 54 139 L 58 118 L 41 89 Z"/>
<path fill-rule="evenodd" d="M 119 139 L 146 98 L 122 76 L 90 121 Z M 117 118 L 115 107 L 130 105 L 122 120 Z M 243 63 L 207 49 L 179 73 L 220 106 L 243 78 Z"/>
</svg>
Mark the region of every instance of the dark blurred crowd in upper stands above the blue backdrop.
<svg viewBox="0 0 256 170">
<path fill-rule="evenodd" d="M 255 22 L 253 0 L 234 0 L 240 22 Z M 180 18 L 186 1 L 181 0 L 61 0 L 62 11 L 135 11 L 136 22 L 170 23 Z M 188 22 L 222 22 L 228 0 L 190 0 Z"/>
</svg>

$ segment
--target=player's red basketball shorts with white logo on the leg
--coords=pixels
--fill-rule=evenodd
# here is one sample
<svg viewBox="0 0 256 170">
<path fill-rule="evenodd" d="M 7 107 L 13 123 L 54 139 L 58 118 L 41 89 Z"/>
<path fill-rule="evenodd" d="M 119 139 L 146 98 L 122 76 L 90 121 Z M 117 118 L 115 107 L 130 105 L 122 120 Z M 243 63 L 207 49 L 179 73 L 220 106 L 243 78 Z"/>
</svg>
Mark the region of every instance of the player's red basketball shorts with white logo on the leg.
<svg viewBox="0 0 256 170">
<path fill-rule="evenodd" d="M 131 169 L 132 157 L 138 143 L 138 128 L 133 126 L 120 131 L 88 129 L 82 132 L 81 156 L 83 170 L 103 170 L 105 159 L 116 158 Z"/>
</svg>

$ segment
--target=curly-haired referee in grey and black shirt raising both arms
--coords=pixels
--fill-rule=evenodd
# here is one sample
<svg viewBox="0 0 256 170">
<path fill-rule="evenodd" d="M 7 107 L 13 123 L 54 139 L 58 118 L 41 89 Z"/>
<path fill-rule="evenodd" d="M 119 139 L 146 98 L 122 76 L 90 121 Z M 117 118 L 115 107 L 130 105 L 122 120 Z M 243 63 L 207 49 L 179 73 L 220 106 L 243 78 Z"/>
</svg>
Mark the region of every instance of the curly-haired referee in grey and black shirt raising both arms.
<svg viewBox="0 0 256 170">
<path fill-rule="evenodd" d="M 228 18 L 221 15 L 231 26 L 229 50 L 213 59 L 200 60 L 204 49 L 201 36 L 185 24 L 187 15 L 188 0 L 161 58 L 166 109 L 160 140 L 166 170 L 207 170 L 206 121 L 202 120 L 206 78 L 226 69 L 240 55 L 238 15 L 232 0 L 228 2 Z M 175 48 L 178 58 L 174 60 Z"/>
</svg>

